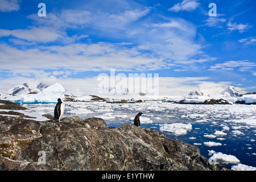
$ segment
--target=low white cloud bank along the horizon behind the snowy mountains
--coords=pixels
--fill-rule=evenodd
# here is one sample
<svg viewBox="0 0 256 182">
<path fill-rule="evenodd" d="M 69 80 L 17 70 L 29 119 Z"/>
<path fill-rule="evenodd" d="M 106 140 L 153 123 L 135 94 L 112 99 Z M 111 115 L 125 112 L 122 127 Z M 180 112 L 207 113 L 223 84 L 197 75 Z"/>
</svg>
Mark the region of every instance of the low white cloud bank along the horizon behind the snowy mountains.
<svg viewBox="0 0 256 182">
<path fill-rule="evenodd" d="M 134 74 L 134 72 L 131 72 Z M 48 73 L 45 73 L 48 75 Z M 65 89 L 68 90 L 68 92 L 71 92 L 75 94 L 76 96 L 81 96 L 85 94 L 94 94 L 100 96 L 101 93 L 98 92 L 97 86 L 100 86 L 100 83 L 102 80 L 97 80 L 97 76 L 95 77 L 85 77 L 85 78 L 65 78 L 65 77 L 59 77 L 56 78 L 55 76 L 38 76 L 37 78 L 27 78 L 22 76 L 17 76 L 13 78 L 7 78 L 5 80 L 0 80 L 0 88 L 1 92 L 5 92 L 6 90 L 12 88 L 15 85 L 20 85 L 23 82 L 42 82 L 46 85 L 52 85 L 56 82 L 59 82 L 61 85 L 64 86 Z M 115 75 L 117 76 L 117 75 Z M 128 77 L 129 75 L 127 75 Z M 108 78 L 108 77 L 106 77 Z M 146 77 L 146 81 L 148 78 Z M 128 79 L 127 79 L 128 80 Z M 152 75 L 152 80 L 154 80 L 154 74 Z M 158 85 L 155 85 L 156 88 L 158 86 L 159 88 L 159 96 L 185 96 L 187 95 L 191 90 L 195 90 L 199 88 L 202 92 L 205 94 L 210 93 L 220 93 L 222 90 L 224 90 L 227 86 L 229 86 L 230 82 L 212 82 L 208 81 L 208 77 L 159 77 Z M 129 81 L 128 81 L 129 82 Z M 115 81 L 115 86 L 117 84 L 120 84 L 119 80 Z M 130 83 L 131 84 L 131 83 Z M 154 90 L 154 84 L 153 83 L 151 89 Z M 134 85 L 140 85 L 142 88 L 142 80 L 140 82 L 134 82 L 131 84 L 133 85 L 132 88 L 134 88 Z M 129 84 L 127 84 L 129 88 Z M 130 88 L 131 90 L 131 88 Z M 152 93 L 153 94 L 153 93 Z M 109 94 L 105 94 L 105 96 L 113 96 Z"/>
</svg>

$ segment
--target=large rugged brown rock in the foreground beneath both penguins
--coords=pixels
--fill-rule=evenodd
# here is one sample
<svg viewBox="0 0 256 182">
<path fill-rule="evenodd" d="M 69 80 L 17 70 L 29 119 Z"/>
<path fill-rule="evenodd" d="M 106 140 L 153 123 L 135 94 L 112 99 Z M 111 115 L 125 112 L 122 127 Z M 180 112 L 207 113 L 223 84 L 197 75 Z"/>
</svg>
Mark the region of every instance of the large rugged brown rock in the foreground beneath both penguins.
<svg viewBox="0 0 256 182">
<path fill-rule="evenodd" d="M 5 138 L 15 140 L 16 146 L 19 146 L 13 160 L 0 157 L 0 169 L 220 169 L 209 164 L 196 146 L 166 138 L 163 133 L 153 129 L 141 129 L 129 124 L 119 128 L 108 127 L 101 118 L 82 120 L 79 117 L 69 117 L 64 118 L 63 123 L 16 119 L 6 116 L 0 118 L 3 124 L 1 133 L 5 133 Z M 1 142 L 3 147 L 4 141 Z M 11 146 L 10 141 L 9 144 Z M 45 165 L 38 164 L 40 151 L 46 154 Z"/>
</svg>

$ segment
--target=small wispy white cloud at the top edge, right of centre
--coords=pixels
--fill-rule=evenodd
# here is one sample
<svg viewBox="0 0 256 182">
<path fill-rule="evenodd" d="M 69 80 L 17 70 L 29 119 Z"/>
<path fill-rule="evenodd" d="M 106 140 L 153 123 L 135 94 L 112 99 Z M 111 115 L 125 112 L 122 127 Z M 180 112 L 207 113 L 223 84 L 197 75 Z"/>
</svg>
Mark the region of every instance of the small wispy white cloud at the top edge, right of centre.
<svg viewBox="0 0 256 182">
<path fill-rule="evenodd" d="M 168 9 L 168 11 L 194 11 L 198 6 L 200 6 L 200 3 L 197 1 L 198 0 L 184 0 L 181 3 L 176 3 L 173 7 Z"/>
</svg>

